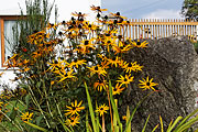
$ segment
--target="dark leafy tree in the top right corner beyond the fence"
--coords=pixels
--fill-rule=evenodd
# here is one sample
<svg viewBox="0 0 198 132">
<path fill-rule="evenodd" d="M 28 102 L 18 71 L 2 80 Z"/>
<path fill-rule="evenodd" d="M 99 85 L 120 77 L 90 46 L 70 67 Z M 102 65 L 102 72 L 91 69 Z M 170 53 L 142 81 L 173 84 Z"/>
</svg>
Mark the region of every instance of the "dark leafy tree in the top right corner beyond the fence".
<svg viewBox="0 0 198 132">
<path fill-rule="evenodd" d="M 185 0 L 182 7 L 182 14 L 188 20 L 198 20 L 198 0 Z"/>
</svg>

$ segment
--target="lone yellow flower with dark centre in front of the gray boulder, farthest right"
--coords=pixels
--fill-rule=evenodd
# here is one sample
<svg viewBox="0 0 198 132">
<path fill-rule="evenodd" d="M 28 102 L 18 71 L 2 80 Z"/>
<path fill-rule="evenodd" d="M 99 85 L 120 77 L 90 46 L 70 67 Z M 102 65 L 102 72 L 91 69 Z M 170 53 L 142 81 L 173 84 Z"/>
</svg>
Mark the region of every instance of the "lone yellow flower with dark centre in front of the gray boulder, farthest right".
<svg viewBox="0 0 198 132">
<path fill-rule="evenodd" d="M 148 76 L 146 77 L 146 79 L 143 78 L 143 80 L 139 80 L 141 84 L 140 85 L 140 88 L 144 88 L 143 90 L 146 90 L 146 89 L 153 89 L 155 90 L 154 86 L 157 86 L 158 84 L 156 82 L 152 82 L 153 81 L 153 78 L 148 78 Z"/>
</svg>

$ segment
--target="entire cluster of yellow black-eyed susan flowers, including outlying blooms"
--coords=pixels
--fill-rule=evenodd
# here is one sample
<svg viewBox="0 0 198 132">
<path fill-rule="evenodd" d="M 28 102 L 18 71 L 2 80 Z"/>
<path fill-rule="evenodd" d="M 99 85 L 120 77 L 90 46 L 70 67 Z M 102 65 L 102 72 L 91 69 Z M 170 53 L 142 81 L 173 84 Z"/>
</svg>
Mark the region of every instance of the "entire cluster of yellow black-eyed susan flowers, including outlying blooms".
<svg viewBox="0 0 198 132">
<path fill-rule="evenodd" d="M 124 55 L 132 48 L 147 47 L 147 42 L 132 41 L 120 32 L 123 25 L 131 24 L 120 15 L 120 12 L 102 16 L 102 11 L 107 9 L 92 6 L 91 10 L 97 13 L 96 21 L 89 22 L 85 18 L 87 14 L 74 12 L 67 22 L 48 23 L 43 31 L 28 36 L 31 50 L 23 47 L 24 54 L 14 54 L 7 61 L 8 68 L 19 67 L 20 76 L 16 79 L 26 78 L 25 82 L 33 85 L 33 90 L 29 87 L 21 92 L 30 94 L 34 102 L 36 98 L 40 99 L 41 102 L 36 102 L 35 106 L 45 106 L 44 112 L 40 106 L 37 107 L 42 114 L 50 112 L 45 120 L 55 120 L 51 109 L 57 108 L 58 112 L 65 111 L 66 125 L 77 125 L 81 119 L 79 113 L 86 109 L 81 107 L 85 96 L 84 82 L 89 86 L 91 96 L 105 95 L 107 99 L 108 95 L 109 99 L 111 90 L 109 81 L 113 86 L 112 95 L 120 95 L 134 81 L 135 74 L 143 69 L 138 62 L 127 62 Z M 140 88 L 144 90 L 155 90 L 156 85 L 153 78 L 140 80 Z M 72 91 L 80 96 L 72 97 L 69 96 Z M 67 100 L 66 105 L 63 102 L 66 110 L 64 107 L 58 107 L 62 102 L 57 102 L 57 99 Z M 75 101 L 70 102 L 70 100 Z M 78 103 L 77 100 L 81 101 Z M 50 102 L 55 102 L 53 103 L 55 107 L 51 107 Z M 102 118 L 110 109 L 110 106 L 105 105 L 106 102 L 96 108 L 96 112 L 99 112 Z M 62 117 L 62 113 L 59 114 Z M 32 118 L 33 113 L 29 112 L 21 116 L 21 119 L 26 122 Z"/>
</svg>

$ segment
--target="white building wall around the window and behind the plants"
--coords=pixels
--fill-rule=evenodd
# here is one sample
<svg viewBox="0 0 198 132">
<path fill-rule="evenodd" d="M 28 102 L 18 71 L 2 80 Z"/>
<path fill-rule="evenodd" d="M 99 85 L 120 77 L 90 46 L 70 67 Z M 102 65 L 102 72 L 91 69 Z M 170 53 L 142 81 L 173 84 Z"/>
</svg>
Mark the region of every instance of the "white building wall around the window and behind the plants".
<svg viewBox="0 0 198 132">
<path fill-rule="evenodd" d="M 53 3 L 54 0 L 48 0 L 50 3 Z M 70 19 L 72 12 L 82 12 L 88 14 L 88 20 L 92 21 L 96 14 L 90 11 L 90 6 L 101 6 L 101 0 L 55 0 L 55 4 L 58 8 L 58 22 L 63 20 L 67 21 Z M 25 0 L 1 0 L 0 4 L 0 15 L 15 15 L 20 14 L 20 7 L 25 12 Z M 51 22 L 54 22 L 54 10 L 52 11 Z M 1 46 L 0 46 L 1 47 Z M 1 58 L 1 54 L 0 54 Z M 1 64 L 1 59 L 0 59 Z M 0 73 L 3 72 L 4 67 L 0 66 Z M 15 84 L 11 81 L 15 76 L 12 69 L 4 72 L 4 74 L 0 77 L 0 85 L 9 84 L 12 88 L 14 88 Z M 0 86 L 0 90 L 2 87 Z"/>
</svg>

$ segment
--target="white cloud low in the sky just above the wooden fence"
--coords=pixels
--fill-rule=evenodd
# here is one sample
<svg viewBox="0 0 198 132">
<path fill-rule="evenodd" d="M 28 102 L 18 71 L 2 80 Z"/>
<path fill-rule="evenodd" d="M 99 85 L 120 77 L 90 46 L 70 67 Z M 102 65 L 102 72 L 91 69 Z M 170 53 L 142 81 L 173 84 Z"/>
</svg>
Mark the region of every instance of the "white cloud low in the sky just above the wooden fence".
<svg viewBox="0 0 198 132">
<path fill-rule="evenodd" d="M 157 9 L 154 12 L 144 14 L 143 19 L 182 19 L 180 10 L 162 10 Z"/>
</svg>

